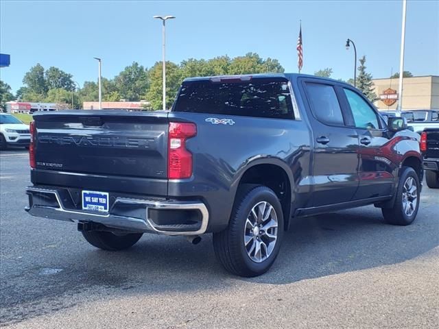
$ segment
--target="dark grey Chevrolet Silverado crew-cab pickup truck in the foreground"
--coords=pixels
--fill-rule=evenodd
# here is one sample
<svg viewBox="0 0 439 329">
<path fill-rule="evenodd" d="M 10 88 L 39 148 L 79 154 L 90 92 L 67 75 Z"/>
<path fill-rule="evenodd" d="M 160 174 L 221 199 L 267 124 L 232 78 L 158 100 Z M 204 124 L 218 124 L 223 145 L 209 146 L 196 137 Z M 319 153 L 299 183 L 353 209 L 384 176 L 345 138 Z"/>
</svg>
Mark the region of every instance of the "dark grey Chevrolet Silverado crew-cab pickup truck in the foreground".
<svg viewBox="0 0 439 329">
<path fill-rule="evenodd" d="M 30 215 L 78 222 L 88 243 L 213 233 L 230 273 L 257 276 L 292 217 L 375 204 L 408 225 L 423 180 L 418 134 L 359 90 L 298 74 L 186 79 L 171 112 L 34 115 Z"/>
</svg>

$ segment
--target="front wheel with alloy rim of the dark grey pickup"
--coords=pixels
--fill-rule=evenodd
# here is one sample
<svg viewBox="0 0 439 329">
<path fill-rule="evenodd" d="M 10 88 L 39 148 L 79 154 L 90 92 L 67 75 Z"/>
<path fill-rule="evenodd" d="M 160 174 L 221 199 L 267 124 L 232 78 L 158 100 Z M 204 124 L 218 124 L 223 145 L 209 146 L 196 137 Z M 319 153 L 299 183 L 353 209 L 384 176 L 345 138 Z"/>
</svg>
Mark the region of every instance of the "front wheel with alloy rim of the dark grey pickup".
<svg viewBox="0 0 439 329">
<path fill-rule="evenodd" d="M 385 221 L 393 225 L 410 225 L 416 218 L 420 202 L 420 182 L 416 171 L 402 167 L 393 208 L 382 208 Z"/>
</svg>

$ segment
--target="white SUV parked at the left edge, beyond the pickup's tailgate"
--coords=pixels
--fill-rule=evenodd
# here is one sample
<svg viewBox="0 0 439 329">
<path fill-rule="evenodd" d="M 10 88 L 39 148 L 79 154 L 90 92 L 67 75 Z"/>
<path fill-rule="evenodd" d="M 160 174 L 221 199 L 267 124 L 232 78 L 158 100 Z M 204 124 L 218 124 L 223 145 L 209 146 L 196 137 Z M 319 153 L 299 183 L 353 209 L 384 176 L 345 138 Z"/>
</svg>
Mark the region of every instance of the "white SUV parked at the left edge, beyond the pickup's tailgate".
<svg viewBox="0 0 439 329">
<path fill-rule="evenodd" d="M 0 113 L 0 149 L 8 146 L 29 147 L 29 125 L 11 114 Z"/>
</svg>

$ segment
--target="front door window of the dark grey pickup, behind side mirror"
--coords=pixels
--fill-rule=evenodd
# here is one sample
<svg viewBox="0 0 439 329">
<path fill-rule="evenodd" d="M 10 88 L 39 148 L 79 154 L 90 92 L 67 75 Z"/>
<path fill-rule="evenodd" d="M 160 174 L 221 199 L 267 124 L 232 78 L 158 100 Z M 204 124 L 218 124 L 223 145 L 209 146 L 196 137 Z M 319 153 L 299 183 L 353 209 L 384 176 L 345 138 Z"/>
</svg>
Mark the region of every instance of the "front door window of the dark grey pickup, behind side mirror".
<svg viewBox="0 0 439 329">
<path fill-rule="evenodd" d="M 366 129 L 379 129 L 377 113 L 372 110 L 369 104 L 353 90 L 344 88 L 344 93 L 351 106 L 355 121 L 355 127 Z"/>
</svg>

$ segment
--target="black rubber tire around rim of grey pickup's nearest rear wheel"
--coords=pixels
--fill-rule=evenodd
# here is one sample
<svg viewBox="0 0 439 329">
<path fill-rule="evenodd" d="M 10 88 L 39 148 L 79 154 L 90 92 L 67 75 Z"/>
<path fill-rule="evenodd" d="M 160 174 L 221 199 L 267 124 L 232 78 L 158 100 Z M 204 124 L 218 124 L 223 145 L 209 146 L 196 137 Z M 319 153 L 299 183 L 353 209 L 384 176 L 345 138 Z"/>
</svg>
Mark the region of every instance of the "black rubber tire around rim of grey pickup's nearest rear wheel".
<svg viewBox="0 0 439 329">
<path fill-rule="evenodd" d="M 268 202 L 274 209 L 274 215 L 276 215 L 278 221 L 276 230 L 277 239 L 270 254 L 268 254 L 268 247 L 265 246 L 266 258 L 265 260 L 261 258 L 261 262 L 257 263 L 257 261 L 252 260 L 246 249 L 244 230 L 246 229 L 246 221 L 250 216 L 250 211 L 261 202 Z M 260 232 L 263 232 L 263 230 L 261 229 Z M 222 232 L 213 234 L 213 249 L 215 250 L 215 256 L 219 262 L 230 273 L 244 277 L 259 276 L 268 271 L 274 263 L 274 260 L 276 260 L 281 247 L 282 237 L 283 212 L 281 203 L 276 194 L 266 186 L 243 184 L 238 188 L 228 227 Z M 261 235 L 261 237 L 254 236 L 252 239 L 253 244 L 256 243 L 255 239 L 263 241 L 263 239 L 268 238 Z M 264 245 L 267 245 L 267 243 L 264 243 Z M 259 246 L 261 247 L 261 244 Z M 252 246 L 250 246 L 249 249 L 252 249 Z M 262 253 L 261 247 L 260 254 Z M 254 256 L 256 256 L 256 254 Z"/>
</svg>

